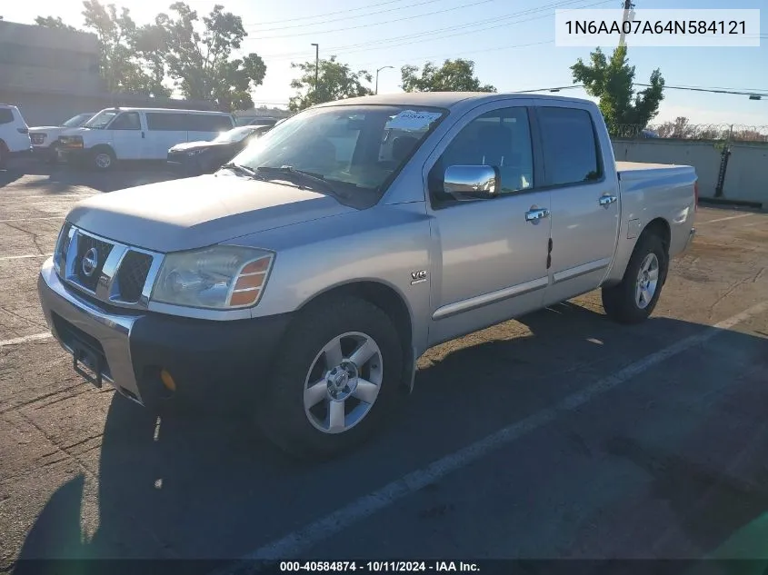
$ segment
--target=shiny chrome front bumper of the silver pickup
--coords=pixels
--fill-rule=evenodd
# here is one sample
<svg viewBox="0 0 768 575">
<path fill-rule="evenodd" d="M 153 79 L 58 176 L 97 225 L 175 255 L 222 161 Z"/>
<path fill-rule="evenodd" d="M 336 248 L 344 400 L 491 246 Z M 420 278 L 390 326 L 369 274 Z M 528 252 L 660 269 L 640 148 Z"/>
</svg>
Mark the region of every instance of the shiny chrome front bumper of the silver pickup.
<svg viewBox="0 0 768 575">
<path fill-rule="evenodd" d="M 48 322 L 56 341 L 67 352 L 74 353 L 63 334 L 56 330 L 56 323 L 62 320 L 95 338 L 104 349 L 109 371 L 108 374 L 102 374 L 102 379 L 129 399 L 142 403 L 129 342 L 131 329 L 139 316 L 105 312 L 68 291 L 55 273 L 53 258 L 48 258 L 40 270 L 37 292 L 45 313 L 45 321 Z M 55 315 L 58 316 L 56 321 Z"/>
</svg>

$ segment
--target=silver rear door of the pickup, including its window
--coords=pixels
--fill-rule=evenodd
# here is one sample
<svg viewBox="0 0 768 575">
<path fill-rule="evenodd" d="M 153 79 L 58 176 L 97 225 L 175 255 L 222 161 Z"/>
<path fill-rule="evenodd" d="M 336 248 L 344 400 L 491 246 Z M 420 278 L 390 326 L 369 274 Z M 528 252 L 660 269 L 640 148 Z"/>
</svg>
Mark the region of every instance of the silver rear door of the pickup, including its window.
<svg viewBox="0 0 768 575">
<path fill-rule="evenodd" d="M 545 303 L 597 288 L 613 261 L 619 202 L 605 173 L 603 148 L 590 107 L 536 107 L 544 179 L 552 193 L 552 263 Z"/>
</svg>

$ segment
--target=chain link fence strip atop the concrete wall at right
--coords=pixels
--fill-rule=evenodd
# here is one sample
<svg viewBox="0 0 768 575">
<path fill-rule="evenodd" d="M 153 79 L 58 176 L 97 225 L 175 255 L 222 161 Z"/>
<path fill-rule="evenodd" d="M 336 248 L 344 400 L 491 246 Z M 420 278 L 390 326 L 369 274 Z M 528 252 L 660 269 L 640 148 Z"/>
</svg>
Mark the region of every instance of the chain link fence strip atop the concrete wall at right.
<svg viewBox="0 0 768 575">
<path fill-rule="evenodd" d="M 665 138 L 709 142 L 768 142 L 768 125 L 689 124 L 684 118 L 647 126 L 619 124 L 612 126 L 610 133 L 613 138 L 623 140 Z"/>
</svg>

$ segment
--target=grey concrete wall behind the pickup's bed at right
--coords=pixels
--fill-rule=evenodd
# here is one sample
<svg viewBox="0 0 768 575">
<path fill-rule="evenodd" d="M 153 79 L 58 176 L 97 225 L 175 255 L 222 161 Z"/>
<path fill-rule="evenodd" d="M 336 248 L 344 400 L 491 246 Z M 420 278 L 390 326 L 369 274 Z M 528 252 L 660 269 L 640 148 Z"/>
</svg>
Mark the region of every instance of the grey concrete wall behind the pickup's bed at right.
<svg viewBox="0 0 768 575">
<path fill-rule="evenodd" d="M 722 143 L 684 140 L 613 140 L 616 160 L 693 165 L 699 194 L 713 197 L 720 171 Z M 768 206 L 768 144 L 732 144 L 723 198 Z"/>
</svg>

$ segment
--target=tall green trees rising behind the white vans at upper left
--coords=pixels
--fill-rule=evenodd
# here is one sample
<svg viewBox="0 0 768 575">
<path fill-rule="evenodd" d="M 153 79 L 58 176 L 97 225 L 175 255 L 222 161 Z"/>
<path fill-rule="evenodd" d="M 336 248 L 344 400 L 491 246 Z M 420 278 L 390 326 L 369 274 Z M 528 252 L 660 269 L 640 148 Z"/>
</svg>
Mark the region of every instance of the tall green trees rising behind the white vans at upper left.
<svg viewBox="0 0 768 575">
<path fill-rule="evenodd" d="M 202 19 L 184 2 L 172 15 L 137 26 L 130 11 L 99 0 L 83 2 L 85 30 L 99 40 L 101 74 L 110 92 L 168 97 L 174 81 L 185 98 L 214 101 L 223 109 L 253 107 L 250 92 L 264 82 L 266 65 L 254 53 L 232 58 L 247 35 L 240 16 L 214 9 Z M 75 30 L 62 19 L 38 16 L 37 25 Z"/>
</svg>

